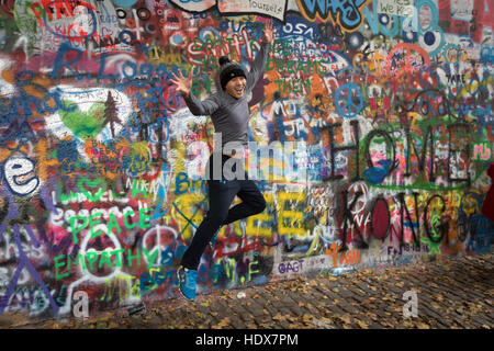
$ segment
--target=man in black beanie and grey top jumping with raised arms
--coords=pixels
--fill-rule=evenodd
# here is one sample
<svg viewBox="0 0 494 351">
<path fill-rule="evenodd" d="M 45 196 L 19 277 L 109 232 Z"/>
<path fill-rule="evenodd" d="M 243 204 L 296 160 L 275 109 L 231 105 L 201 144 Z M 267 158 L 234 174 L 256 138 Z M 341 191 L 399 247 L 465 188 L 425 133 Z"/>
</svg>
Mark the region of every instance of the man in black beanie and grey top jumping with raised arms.
<svg viewBox="0 0 494 351">
<path fill-rule="evenodd" d="M 236 166 L 245 165 L 249 122 L 247 95 L 258 79 L 262 77 L 266 67 L 273 39 L 271 22 L 265 25 L 262 35 L 261 48 L 257 53 L 249 72 L 246 73 L 239 64 L 231 61 L 227 57 L 220 58 L 221 89 L 203 101 L 199 101 L 191 93 L 192 71 L 189 77 L 183 77 L 180 70 L 178 76 L 172 75 L 171 82 L 177 86 L 177 90 L 182 94 L 190 112 L 193 115 L 210 115 L 215 134 L 220 134 L 222 137 L 221 150 L 214 149 L 207 162 L 209 212 L 183 253 L 178 270 L 180 292 L 188 299 L 195 298 L 195 280 L 201 256 L 221 226 L 256 215 L 266 208 L 265 197 L 254 181 L 248 179 L 247 172 L 240 172 L 242 177 L 234 179 L 225 177 L 225 174 L 217 177 L 215 172 L 215 170 L 226 168 L 224 167 L 225 162 Z M 225 147 L 226 144 L 240 145 L 243 152 L 232 150 L 232 147 Z M 236 166 L 232 168 L 233 171 L 238 171 Z M 229 208 L 235 196 L 240 197 L 243 202 Z"/>
</svg>

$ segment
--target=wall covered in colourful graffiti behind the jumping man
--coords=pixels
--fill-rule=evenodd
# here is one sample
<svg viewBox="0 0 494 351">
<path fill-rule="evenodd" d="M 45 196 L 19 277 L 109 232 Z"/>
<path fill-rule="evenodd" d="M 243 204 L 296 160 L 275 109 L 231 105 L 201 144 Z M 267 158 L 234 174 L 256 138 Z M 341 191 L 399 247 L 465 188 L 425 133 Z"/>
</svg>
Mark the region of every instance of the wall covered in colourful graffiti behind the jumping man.
<svg viewBox="0 0 494 351">
<path fill-rule="evenodd" d="M 0 314 L 177 296 L 214 131 L 171 73 L 206 98 L 271 20 L 268 205 L 221 229 L 200 292 L 490 250 L 493 0 L 2 0 Z"/>
</svg>

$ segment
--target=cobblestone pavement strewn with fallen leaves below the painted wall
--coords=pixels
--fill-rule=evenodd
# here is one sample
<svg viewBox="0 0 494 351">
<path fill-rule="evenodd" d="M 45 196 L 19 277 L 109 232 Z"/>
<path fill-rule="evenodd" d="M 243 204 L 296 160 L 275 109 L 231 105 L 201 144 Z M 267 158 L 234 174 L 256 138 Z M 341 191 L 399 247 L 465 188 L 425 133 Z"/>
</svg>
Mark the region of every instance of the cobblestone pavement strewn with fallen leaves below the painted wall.
<svg viewBox="0 0 494 351">
<path fill-rule="evenodd" d="M 85 321 L 3 324 L 2 328 L 492 329 L 493 276 L 492 253 L 438 257 L 430 262 L 215 292 L 200 295 L 193 303 L 169 299 L 131 316 L 109 312 Z M 417 294 L 416 317 L 404 317 L 407 291 Z"/>
</svg>

